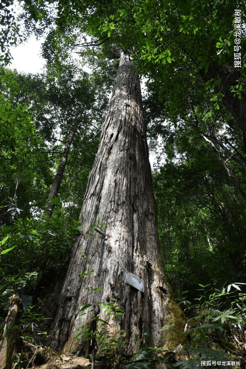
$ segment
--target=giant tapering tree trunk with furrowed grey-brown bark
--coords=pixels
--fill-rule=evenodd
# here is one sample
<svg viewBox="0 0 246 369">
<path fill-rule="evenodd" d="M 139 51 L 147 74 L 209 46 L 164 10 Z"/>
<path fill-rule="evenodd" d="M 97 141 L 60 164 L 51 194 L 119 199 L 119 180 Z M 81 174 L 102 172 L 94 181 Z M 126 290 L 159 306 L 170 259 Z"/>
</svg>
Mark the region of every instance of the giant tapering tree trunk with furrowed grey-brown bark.
<svg viewBox="0 0 246 369">
<path fill-rule="evenodd" d="M 125 354 L 147 343 L 177 348 L 184 315 L 164 275 L 139 76 L 123 53 L 84 197 L 82 230 L 99 217 L 108 224 L 104 235 L 80 237 L 72 249 L 51 346 L 77 355 L 92 349 L 90 342 L 75 339 L 80 326 L 92 324 L 90 308 L 80 316 L 80 306 L 91 304 L 94 314 L 107 319 L 101 305 L 95 304 L 101 301 L 117 303 L 124 310 L 117 320 L 109 318 L 107 329 L 115 335 L 120 329 L 125 331 Z M 143 279 L 144 292 L 126 283 L 126 270 Z M 88 274 L 79 277 L 82 272 Z M 95 288 L 103 291 L 91 290 Z M 160 331 L 172 323 L 171 330 Z"/>
</svg>

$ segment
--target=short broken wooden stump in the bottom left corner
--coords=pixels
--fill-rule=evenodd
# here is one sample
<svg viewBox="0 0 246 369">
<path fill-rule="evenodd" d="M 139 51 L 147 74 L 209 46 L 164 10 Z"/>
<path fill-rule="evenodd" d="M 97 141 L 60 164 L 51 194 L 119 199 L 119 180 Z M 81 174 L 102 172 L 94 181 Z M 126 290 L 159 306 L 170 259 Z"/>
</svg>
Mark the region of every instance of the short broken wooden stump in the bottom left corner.
<svg viewBox="0 0 246 369">
<path fill-rule="evenodd" d="M 15 339 L 18 336 L 17 325 L 19 324 L 24 307 L 20 296 L 13 294 L 9 299 L 9 311 L 3 330 L 3 338 L 0 345 L 0 369 L 11 369 L 11 359 L 15 348 Z"/>
</svg>

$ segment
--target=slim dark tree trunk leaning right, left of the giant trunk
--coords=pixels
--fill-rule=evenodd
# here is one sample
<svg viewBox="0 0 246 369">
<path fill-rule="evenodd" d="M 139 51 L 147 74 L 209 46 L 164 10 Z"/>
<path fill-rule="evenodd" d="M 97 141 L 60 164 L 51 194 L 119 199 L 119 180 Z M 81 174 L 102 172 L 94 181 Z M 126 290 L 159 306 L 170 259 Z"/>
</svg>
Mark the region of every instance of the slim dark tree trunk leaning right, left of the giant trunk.
<svg viewBox="0 0 246 369">
<path fill-rule="evenodd" d="M 59 168 L 58 168 L 58 170 L 56 172 L 56 175 L 55 175 L 55 178 L 53 180 L 53 184 L 52 184 L 51 190 L 49 192 L 49 197 L 48 197 L 47 204 L 46 204 L 46 207 L 45 207 L 45 213 L 48 215 L 48 217 L 51 217 L 52 211 L 54 210 L 54 207 L 55 207 L 55 204 L 52 203 L 52 199 L 58 195 L 60 184 L 62 182 L 63 173 L 64 173 L 64 170 L 65 170 L 66 164 L 67 164 L 67 158 L 68 158 L 68 154 L 69 154 L 69 151 L 70 151 L 70 147 L 71 147 L 73 139 L 75 137 L 75 133 L 77 131 L 77 128 L 78 128 L 78 125 L 79 125 L 79 122 L 80 122 L 80 117 L 81 117 L 83 111 L 84 111 L 84 108 L 81 108 L 81 110 L 80 110 L 80 112 L 79 112 L 79 114 L 76 118 L 76 121 L 73 124 L 73 127 L 72 127 L 72 129 L 69 133 L 68 139 L 67 139 L 67 141 L 65 143 L 65 146 L 64 146 L 64 150 L 62 152 L 62 160 L 60 161 Z"/>
</svg>

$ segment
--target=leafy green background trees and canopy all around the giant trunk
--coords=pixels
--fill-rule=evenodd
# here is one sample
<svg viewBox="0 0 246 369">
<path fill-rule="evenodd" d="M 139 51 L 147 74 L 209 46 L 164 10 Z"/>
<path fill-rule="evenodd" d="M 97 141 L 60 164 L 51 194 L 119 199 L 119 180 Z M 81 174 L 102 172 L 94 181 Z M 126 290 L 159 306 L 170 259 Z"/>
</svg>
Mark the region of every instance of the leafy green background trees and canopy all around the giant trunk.
<svg viewBox="0 0 246 369">
<path fill-rule="evenodd" d="M 49 5 L 23 1 L 22 6 L 26 34 L 47 32 L 43 55 L 48 64 L 38 76 L 1 69 L 1 239 L 11 236 L 5 249 L 17 245 L 1 258 L 4 296 L 27 283 L 13 279 L 16 265 L 22 276 L 39 271 L 39 277 L 32 276 L 35 283 L 27 283 L 30 294 L 51 266 L 58 270 L 66 265 L 107 109 L 106 92 L 116 72 L 109 58 L 117 47 L 131 52 L 147 78 L 147 133 L 150 148 L 160 146 L 153 183 L 161 252 L 176 297 L 181 306 L 199 298 L 207 309 L 207 323 L 216 309 L 221 314 L 233 309 L 238 332 L 243 331 L 239 315 L 245 317 L 244 290 L 233 287 L 242 293 L 235 293 L 233 301 L 232 295 L 219 296 L 218 290 L 222 293 L 223 286 L 245 280 L 244 1 L 173 1 L 161 6 L 151 0 L 127 1 L 124 7 L 115 0 Z M 232 66 L 235 8 L 242 10 L 240 70 Z M 11 12 L 5 15 L 1 22 L 14 24 Z M 18 27 L 4 35 L 1 59 L 7 62 L 4 43 L 10 38 L 15 42 Z M 89 76 L 74 65 L 71 51 L 81 61 L 90 55 L 87 61 L 96 74 Z M 58 206 L 50 223 L 41 227 L 38 214 L 82 106 L 87 113 L 69 152 L 60 205 L 55 200 Z M 198 283 L 209 284 L 210 296 L 217 293 L 217 300 L 203 292 L 201 297 Z M 194 315 L 192 308 L 186 312 Z M 235 327 L 226 319 L 228 341 Z"/>
</svg>

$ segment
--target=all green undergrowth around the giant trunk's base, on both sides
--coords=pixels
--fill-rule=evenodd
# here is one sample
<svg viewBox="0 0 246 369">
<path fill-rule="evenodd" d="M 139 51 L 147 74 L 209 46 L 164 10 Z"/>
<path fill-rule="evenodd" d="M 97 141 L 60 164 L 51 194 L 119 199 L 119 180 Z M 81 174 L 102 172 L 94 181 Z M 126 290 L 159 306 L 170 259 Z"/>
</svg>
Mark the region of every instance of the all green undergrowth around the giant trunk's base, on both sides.
<svg viewBox="0 0 246 369">
<path fill-rule="evenodd" d="M 49 337 L 45 330 L 47 318 L 42 313 L 43 291 L 47 290 L 50 270 L 59 272 L 61 268 L 66 267 L 70 247 L 79 233 L 79 222 L 67 217 L 57 199 L 54 201 L 58 206 L 51 220 L 41 222 L 35 218 L 15 217 L 11 227 L 2 228 L 2 231 L 5 231 L 0 238 L 2 330 L 8 311 L 8 298 L 13 293 L 19 293 L 24 304 L 24 314 L 18 327 L 20 330 L 18 345 L 13 356 L 15 369 L 34 368 L 49 358 L 48 354 L 43 358 L 41 355 L 43 349 L 44 352 L 49 351 Z M 13 208 L 12 211 L 17 210 Z M 88 237 L 93 237 L 97 233 L 101 234 L 101 225 L 106 224 L 101 223 L 100 219 L 97 224 L 91 223 L 90 229 L 84 232 L 84 235 L 87 233 Z M 187 324 L 183 337 L 180 338 L 183 347 L 177 352 L 171 349 L 163 350 L 158 346 L 158 342 L 151 342 L 150 346 L 139 348 L 131 358 L 123 358 L 120 347 L 125 339 L 124 332 L 119 331 L 117 337 L 109 335 L 108 323 L 97 314 L 93 318 L 94 329 L 91 330 L 91 326 L 81 327 L 83 333 L 78 335 L 83 334 L 84 338 L 93 342 L 92 362 L 99 361 L 97 365 L 101 365 L 102 368 L 106 368 L 107 365 L 107 368 L 122 369 L 193 369 L 208 368 L 209 363 L 214 368 L 223 366 L 244 368 L 246 283 L 231 282 L 219 287 L 220 284 L 221 282 L 205 285 L 199 283 L 197 290 L 192 293 L 179 290 L 176 301 L 186 314 Z M 86 308 L 94 307 L 86 306 Z M 106 313 L 108 311 L 108 314 L 114 315 L 115 318 L 123 314 L 121 308 L 117 306 L 106 304 L 104 308 Z M 82 309 L 81 314 L 85 311 Z"/>
</svg>

